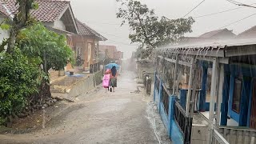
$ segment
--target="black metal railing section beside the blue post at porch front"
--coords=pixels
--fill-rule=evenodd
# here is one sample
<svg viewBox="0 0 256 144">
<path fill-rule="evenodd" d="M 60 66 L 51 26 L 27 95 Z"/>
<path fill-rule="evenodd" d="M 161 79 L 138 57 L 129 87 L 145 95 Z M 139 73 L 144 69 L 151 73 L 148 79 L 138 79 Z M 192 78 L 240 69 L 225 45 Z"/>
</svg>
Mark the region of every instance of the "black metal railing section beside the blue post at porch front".
<svg viewBox="0 0 256 144">
<path fill-rule="evenodd" d="M 185 110 L 177 101 L 174 105 L 174 120 L 182 132 L 184 143 L 190 143 L 193 118 L 186 117 Z"/>
</svg>

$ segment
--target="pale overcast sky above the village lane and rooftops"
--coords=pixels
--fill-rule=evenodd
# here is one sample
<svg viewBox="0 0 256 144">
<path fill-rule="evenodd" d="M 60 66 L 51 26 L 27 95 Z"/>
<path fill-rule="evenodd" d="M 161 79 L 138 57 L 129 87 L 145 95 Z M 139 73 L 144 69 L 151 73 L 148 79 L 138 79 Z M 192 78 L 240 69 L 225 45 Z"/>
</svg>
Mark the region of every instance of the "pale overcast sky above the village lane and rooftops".
<svg viewBox="0 0 256 144">
<path fill-rule="evenodd" d="M 118 50 L 125 53 L 125 58 L 130 58 L 131 52 L 134 51 L 137 46 L 130 45 L 130 39 L 128 38 L 130 30 L 128 26 L 120 27 L 121 20 L 116 18 L 115 15 L 118 12 L 118 4 L 115 0 L 70 1 L 76 18 L 108 39 L 108 41 L 100 42 L 100 44 L 117 46 Z M 256 3 L 255 0 L 237 1 L 246 4 Z M 192 10 L 194 6 L 197 6 L 199 2 L 202 2 L 202 0 L 141 0 L 141 2 L 149 6 L 150 9 L 154 9 L 158 16 L 163 15 L 167 18 L 181 18 Z M 256 4 L 254 4 L 254 6 L 256 6 Z M 237 7 L 239 6 L 227 2 L 226 0 L 206 0 L 188 16 L 197 17 Z M 251 14 L 256 14 L 255 8 L 242 7 L 222 14 L 195 18 L 196 22 L 193 25 L 193 32 L 186 34 L 186 36 L 198 36 L 210 30 L 216 30 L 222 26 L 246 18 Z M 256 26 L 256 15 L 233 25 L 226 26 L 226 28 L 234 30 L 234 34 L 239 34 L 252 26 Z"/>
</svg>

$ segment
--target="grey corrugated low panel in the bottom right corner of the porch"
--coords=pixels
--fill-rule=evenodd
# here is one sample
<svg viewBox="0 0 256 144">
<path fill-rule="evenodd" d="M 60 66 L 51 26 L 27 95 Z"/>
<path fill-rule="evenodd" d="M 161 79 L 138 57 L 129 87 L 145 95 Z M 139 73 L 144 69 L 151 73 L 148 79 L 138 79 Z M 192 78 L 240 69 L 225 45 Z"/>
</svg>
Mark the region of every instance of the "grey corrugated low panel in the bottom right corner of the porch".
<svg viewBox="0 0 256 144">
<path fill-rule="evenodd" d="M 256 143 L 256 130 L 245 127 L 220 126 L 219 134 L 222 134 L 230 144 Z"/>
</svg>

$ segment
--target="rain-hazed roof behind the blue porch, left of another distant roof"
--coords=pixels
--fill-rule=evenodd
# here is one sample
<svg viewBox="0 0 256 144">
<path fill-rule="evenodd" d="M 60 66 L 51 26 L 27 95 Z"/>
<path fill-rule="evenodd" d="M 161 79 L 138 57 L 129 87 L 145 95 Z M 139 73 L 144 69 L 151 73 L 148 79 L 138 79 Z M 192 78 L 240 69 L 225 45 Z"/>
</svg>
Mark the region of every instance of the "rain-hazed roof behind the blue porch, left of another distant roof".
<svg viewBox="0 0 256 144">
<path fill-rule="evenodd" d="M 232 30 L 222 29 L 213 30 L 200 35 L 199 37 L 184 37 L 181 38 L 180 44 L 202 43 L 202 42 L 216 42 L 217 40 L 231 39 L 236 35 Z"/>
</svg>

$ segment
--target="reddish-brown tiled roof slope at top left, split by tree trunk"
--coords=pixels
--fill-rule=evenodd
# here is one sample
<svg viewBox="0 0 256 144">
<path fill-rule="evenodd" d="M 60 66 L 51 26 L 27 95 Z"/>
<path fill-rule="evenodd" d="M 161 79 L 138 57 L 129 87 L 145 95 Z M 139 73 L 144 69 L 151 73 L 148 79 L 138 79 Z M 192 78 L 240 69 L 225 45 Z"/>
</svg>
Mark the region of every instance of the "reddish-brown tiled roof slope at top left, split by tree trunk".
<svg viewBox="0 0 256 144">
<path fill-rule="evenodd" d="M 16 0 L 0 0 L 0 2 L 2 14 L 14 14 L 17 10 L 18 6 L 15 6 Z M 62 0 L 36 0 L 36 2 L 38 2 L 39 8 L 38 10 L 31 10 L 31 15 L 41 22 L 54 22 L 70 5 L 70 2 Z"/>
</svg>

